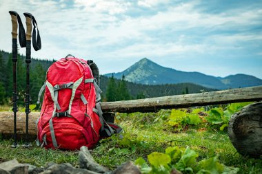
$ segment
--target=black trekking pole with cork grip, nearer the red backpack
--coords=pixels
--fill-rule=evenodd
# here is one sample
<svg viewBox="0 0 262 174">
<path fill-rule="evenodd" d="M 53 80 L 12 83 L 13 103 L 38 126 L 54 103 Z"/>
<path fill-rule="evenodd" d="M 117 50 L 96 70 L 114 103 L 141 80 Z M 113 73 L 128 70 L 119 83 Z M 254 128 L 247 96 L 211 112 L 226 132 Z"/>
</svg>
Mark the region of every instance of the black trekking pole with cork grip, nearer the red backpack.
<svg viewBox="0 0 262 174">
<path fill-rule="evenodd" d="M 32 24 L 34 25 L 33 30 L 33 47 L 34 50 L 41 49 L 41 39 L 39 35 L 39 30 L 37 28 L 37 41 L 36 41 L 36 31 L 35 28 L 37 26 L 37 21 L 35 21 L 32 14 L 25 12 L 23 13 L 26 17 L 26 143 L 23 145 L 25 147 L 30 147 L 31 144 L 28 143 L 28 119 L 29 119 L 29 105 L 30 105 L 30 63 L 31 63 L 31 33 L 32 33 Z"/>
</svg>

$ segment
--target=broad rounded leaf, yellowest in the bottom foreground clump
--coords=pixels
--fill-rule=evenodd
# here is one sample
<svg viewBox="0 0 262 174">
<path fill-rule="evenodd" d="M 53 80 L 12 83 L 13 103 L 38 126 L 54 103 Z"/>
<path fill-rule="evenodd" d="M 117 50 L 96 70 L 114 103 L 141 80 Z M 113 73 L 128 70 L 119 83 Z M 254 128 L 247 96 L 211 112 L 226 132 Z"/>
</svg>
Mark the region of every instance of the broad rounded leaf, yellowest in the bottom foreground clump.
<svg viewBox="0 0 262 174">
<path fill-rule="evenodd" d="M 160 166 L 168 166 L 168 164 L 171 162 L 171 158 L 169 155 L 159 152 L 153 152 L 150 155 L 148 155 L 148 162 L 158 168 Z"/>
</svg>

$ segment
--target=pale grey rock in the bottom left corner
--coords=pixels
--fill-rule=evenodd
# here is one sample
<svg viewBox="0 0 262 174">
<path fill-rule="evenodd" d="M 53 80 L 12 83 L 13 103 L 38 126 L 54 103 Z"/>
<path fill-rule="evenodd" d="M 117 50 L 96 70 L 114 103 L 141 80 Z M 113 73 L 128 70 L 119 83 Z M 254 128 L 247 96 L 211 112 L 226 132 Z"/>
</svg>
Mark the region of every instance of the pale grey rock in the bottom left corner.
<svg viewBox="0 0 262 174">
<path fill-rule="evenodd" d="M 1 163 L 0 171 L 1 173 L 28 174 L 28 165 L 19 164 L 19 162 L 14 159 Z"/>
</svg>

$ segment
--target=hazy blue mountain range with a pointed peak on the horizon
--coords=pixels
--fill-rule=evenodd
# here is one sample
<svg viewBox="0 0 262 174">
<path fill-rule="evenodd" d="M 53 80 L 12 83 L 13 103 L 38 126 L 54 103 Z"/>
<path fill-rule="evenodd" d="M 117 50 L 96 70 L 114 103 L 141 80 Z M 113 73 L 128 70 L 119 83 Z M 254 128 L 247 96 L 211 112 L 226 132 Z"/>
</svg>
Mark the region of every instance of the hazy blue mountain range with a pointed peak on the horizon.
<svg viewBox="0 0 262 174">
<path fill-rule="evenodd" d="M 142 58 L 123 72 L 105 74 L 105 76 L 108 77 L 112 75 L 118 79 L 125 76 L 125 80 L 145 85 L 194 83 L 212 89 L 230 89 L 262 85 L 262 80 L 255 76 L 236 74 L 222 78 L 209 76 L 200 72 L 183 72 L 163 67 L 150 61 L 148 58 Z"/>
</svg>

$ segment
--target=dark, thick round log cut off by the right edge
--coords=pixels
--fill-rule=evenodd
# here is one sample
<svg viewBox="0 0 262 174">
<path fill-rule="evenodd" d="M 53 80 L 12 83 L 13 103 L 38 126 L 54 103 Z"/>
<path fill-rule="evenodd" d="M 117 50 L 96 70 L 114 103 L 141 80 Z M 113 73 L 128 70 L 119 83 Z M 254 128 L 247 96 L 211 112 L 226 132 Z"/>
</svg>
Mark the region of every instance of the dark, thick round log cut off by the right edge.
<svg viewBox="0 0 262 174">
<path fill-rule="evenodd" d="M 262 102 L 234 113 L 228 125 L 228 135 L 241 155 L 259 158 L 262 155 Z"/>
</svg>

